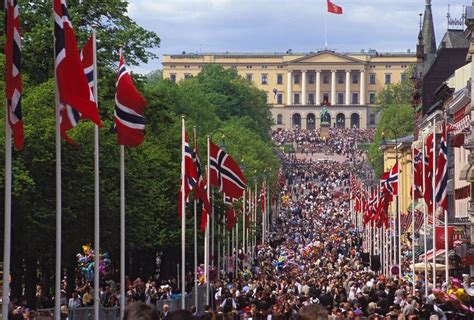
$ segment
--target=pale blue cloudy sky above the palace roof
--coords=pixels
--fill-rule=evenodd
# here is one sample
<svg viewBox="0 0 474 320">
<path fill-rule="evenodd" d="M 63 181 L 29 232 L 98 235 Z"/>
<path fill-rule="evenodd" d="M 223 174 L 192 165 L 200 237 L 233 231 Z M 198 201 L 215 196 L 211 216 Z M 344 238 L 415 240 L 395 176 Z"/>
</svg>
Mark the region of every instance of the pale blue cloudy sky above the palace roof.
<svg viewBox="0 0 474 320">
<path fill-rule="evenodd" d="M 163 54 L 202 52 L 379 52 L 416 48 L 426 0 L 333 0 L 342 15 L 326 13 L 326 0 L 129 0 L 128 14 L 161 38 L 160 57 L 133 68 L 161 69 Z M 459 18 L 469 0 L 433 0 L 436 41 L 447 29 L 448 5 Z"/>
</svg>

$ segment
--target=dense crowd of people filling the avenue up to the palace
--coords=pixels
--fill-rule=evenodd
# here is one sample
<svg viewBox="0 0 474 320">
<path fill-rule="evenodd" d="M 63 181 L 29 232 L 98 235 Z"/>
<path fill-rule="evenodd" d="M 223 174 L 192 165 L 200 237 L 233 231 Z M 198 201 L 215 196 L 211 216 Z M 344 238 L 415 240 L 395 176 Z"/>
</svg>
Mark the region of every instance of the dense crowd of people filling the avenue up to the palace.
<svg viewBox="0 0 474 320">
<path fill-rule="evenodd" d="M 328 139 L 317 131 L 273 132 L 279 144 L 324 144 L 330 152 L 342 154 L 351 152 L 354 141 L 368 142 L 372 137 L 373 131 L 358 129 L 331 129 Z M 338 162 L 284 155 L 282 161 L 284 183 L 268 240 L 259 242 L 254 259 L 239 264 L 237 272 L 219 272 L 210 286 L 210 304 L 203 310 L 194 306 L 170 311 L 166 301 L 179 299 L 176 279 L 159 285 L 152 279 L 127 280 L 125 319 L 469 319 L 474 315 L 435 294 L 450 285 L 443 283 L 443 277 L 433 288 L 431 277 L 424 283 L 422 276 L 388 276 L 369 265 L 348 193 L 351 174 L 370 174 L 361 158 Z M 190 286 L 192 279 L 189 274 Z M 113 279 L 106 284 L 100 289 L 101 303 L 116 307 L 119 285 Z M 91 290 L 87 283 L 78 283 L 72 297 L 61 297 L 65 311 L 90 306 Z M 37 296 L 42 301 L 40 287 Z M 472 302 L 472 297 L 467 299 Z M 158 304 L 160 308 L 155 307 Z"/>
</svg>

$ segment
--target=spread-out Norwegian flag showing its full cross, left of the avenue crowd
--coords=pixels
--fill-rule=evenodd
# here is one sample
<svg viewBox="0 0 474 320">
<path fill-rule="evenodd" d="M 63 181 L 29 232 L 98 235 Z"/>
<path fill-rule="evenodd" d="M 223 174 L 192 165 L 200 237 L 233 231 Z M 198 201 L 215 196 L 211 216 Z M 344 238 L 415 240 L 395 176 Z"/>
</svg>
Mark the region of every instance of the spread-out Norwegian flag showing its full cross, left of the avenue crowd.
<svg viewBox="0 0 474 320">
<path fill-rule="evenodd" d="M 210 142 L 211 184 L 229 197 L 240 199 L 247 187 L 247 180 L 239 165 L 224 150 Z"/>
</svg>

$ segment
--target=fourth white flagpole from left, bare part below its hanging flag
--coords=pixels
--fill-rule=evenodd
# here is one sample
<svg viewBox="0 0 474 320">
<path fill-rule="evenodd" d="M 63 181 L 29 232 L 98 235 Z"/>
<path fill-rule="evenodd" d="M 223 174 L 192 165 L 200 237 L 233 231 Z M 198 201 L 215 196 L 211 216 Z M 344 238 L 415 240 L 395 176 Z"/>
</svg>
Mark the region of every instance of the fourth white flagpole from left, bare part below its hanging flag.
<svg viewBox="0 0 474 320">
<path fill-rule="evenodd" d="M 125 147 L 120 146 L 120 318 L 125 314 Z"/>
</svg>

